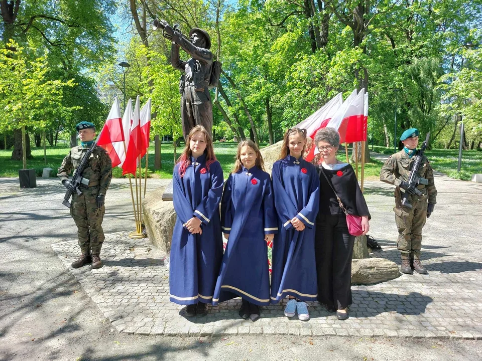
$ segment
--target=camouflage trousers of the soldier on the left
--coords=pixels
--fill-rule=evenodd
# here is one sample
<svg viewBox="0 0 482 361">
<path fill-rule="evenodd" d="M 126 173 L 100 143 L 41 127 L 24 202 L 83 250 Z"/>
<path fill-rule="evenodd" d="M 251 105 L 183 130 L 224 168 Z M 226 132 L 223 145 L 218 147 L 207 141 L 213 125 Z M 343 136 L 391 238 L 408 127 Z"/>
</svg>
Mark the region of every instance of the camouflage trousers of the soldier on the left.
<svg viewBox="0 0 482 361">
<path fill-rule="evenodd" d="M 100 254 L 105 238 L 102 230 L 105 207 L 97 208 L 96 197 L 97 193 L 95 195 L 85 193 L 82 196 L 72 195 L 70 216 L 77 226 L 79 246 L 83 254 L 88 253 L 89 250 L 92 254 Z"/>
</svg>

